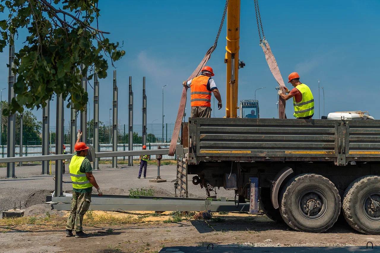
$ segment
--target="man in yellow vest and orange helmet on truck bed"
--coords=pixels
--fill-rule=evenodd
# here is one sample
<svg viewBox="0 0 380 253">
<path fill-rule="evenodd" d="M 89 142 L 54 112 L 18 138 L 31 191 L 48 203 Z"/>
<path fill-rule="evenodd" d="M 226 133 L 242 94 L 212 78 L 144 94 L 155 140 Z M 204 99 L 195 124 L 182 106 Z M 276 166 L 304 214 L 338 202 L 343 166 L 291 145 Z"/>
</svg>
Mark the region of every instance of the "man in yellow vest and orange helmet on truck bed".
<svg viewBox="0 0 380 253">
<path fill-rule="evenodd" d="M 311 119 L 314 115 L 314 98 L 310 88 L 299 81 L 299 74 L 297 72 L 290 73 L 288 76 L 289 82 L 293 85 L 292 90 L 286 88 L 285 95 L 280 89 L 278 94 L 285 100 L 293 98 L 294 117 L 297 119 Z"/>
</svg>

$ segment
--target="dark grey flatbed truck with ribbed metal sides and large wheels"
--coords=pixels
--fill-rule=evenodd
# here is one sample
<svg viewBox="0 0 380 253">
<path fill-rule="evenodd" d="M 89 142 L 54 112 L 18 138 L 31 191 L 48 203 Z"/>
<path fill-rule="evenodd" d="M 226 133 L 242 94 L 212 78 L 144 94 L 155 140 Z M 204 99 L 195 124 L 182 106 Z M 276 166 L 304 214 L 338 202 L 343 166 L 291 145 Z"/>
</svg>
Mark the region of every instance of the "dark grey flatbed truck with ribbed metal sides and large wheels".
<svg viewBox="0 0 380 253">
<path fill-rule="evenodd" d="M 209 196 L 234 190 L 238 205 L 256 178 L 258 202 L 274 221 L 323 232 L 342 213 L 355 230 L 380 234 L 380 120 L 364 118 L 189 118 L 177 188 L 187 193 L 184 178 L 195 175 Z"/>
</svg>

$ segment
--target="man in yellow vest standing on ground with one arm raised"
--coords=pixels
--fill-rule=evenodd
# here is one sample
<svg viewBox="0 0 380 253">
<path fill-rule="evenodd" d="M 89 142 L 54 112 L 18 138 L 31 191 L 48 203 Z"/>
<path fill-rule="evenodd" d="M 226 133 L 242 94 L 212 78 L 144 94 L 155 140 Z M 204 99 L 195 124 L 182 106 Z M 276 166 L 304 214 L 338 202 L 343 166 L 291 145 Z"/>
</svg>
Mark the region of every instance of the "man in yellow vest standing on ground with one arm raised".
<svg viewBox="0 0 380 253">
<path fill-rule="evenodd" d="M 82 138 L 80 130 L 77 138 L 74 146 L 75 152 L 69 165 L 71 183 L 73 183 L 73 199 L 71 200 L 71 212 L 67 219 L 66 237 L 74 236 L 73 229 L 75 229 L 75 238 L 84 238 L 89 237 L 89 234 L 83 232 L 82 221 L 90 207 L 92 187 L 97 189 L 99 196 L 102 196 L 103 192 L 92 174 L 90 161 L 86 158 L 89 147 L 86 146 L 86 143 L 80 142 Z"/>
</svg>

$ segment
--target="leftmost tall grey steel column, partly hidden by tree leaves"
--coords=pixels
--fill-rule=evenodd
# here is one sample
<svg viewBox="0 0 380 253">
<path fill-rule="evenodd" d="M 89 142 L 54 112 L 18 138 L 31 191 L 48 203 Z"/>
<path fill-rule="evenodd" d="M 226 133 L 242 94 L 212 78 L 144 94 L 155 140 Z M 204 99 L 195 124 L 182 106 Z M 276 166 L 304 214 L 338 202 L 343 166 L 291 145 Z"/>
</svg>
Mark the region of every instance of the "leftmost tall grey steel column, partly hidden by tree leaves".
<svg viewBox="0 0 380 253">
<path fill-rule="evenodd" d="M 11 35 L 11 40 L 14 40 L 14 35 Z M 14 96 L 14 89 L 13 85 L 14 82 L 16 82 L 16 76 L 12 71 L 12 68 L 14 68 L 14 43 L 9 44 L 9 68 L 8 68 L 8 104 L 11 104 L 12 99 Z M 14 143 L 16 142 L 16 118 L 15 115 L 11 112 L 8 115 L 8 140 L 7 140 L 7 151 L 6 155 L 7 157 L 14 157 L 15 155 L 15 149 L 14 149 Z M 6 164 L 6 177 L 13 177 L 15 178 L 16 175 L 14 174 L 14 163 L 8 163 Z"/>
</svg>

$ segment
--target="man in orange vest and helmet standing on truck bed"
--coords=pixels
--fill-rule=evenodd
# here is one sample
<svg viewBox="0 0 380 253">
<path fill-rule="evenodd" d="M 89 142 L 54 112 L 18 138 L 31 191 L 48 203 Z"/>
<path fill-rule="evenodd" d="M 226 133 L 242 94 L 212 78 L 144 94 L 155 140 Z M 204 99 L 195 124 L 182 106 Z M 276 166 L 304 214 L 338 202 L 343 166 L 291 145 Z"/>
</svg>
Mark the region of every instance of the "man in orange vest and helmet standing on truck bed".
<svg viewBox="0 0 380 253">
<path fill-rule="evenodd" d="M 190 87 L 191 90 L 191 115 L 194 118 L 210 118 L 211 117 L 211 92 L 214 93 L 218 100 L 218 109 L 222 109 L 222 98 L 214 79 L 212 68 L 204 66 L 201 74 L 197 77 L 184 81 L 182 85 Z"/>
</svg>

